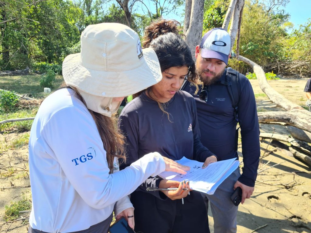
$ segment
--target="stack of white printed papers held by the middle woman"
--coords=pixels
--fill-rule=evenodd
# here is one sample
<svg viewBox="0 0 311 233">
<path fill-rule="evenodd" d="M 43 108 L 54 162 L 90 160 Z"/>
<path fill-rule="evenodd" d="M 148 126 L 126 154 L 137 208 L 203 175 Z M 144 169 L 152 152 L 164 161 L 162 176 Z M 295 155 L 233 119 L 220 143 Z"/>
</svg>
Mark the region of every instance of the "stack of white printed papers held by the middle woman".
<svg viewBox="0 0 311 233">
<path fill-rule="evenodd" d="M 236 158 L 210 163 L 204 169 L 202 169 L 202 162 L 185 157 L 176 160 L 176 162 L 189 166 L 190 171 L 187 171 L 185 175 L 172 171 L 164 171 L 159 176 L 167 180 L 189 180 L 190 187 L 193 190 L 206 194 L 214 194 L 217 187 L 239 167 L 239 160 L 236 160 Z"/>
</svg>

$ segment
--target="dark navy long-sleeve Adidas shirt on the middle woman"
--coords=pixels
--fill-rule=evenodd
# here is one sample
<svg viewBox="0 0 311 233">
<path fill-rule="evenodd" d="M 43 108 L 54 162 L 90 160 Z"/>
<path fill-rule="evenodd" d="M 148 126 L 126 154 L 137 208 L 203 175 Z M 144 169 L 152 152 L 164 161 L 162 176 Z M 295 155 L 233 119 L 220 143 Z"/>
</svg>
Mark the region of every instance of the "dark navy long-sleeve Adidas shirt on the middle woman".
<svg viewBox="0 0 311 233">
<path fill-rule="evenodd" d="M 200 141 L 197 109 L 194 98 L 184 91 L 178 91 L 167 102 L 165 111 L 145 93 L 126 105 L 119 116 L 119 127 L 126 137 L 127 160 L 120 169 L 150 152 L 178 160 L 186 158 L 204 162 L 214 155 Z M 156 179 L 149 179 L 139 189 L 158 185 Z M 143 191 L 143 190 L 142 190 Z M 150 193 L 150 192 L 149 192 Z M 157 196 L 158 192 L 151 192 Z"/>
</svg>

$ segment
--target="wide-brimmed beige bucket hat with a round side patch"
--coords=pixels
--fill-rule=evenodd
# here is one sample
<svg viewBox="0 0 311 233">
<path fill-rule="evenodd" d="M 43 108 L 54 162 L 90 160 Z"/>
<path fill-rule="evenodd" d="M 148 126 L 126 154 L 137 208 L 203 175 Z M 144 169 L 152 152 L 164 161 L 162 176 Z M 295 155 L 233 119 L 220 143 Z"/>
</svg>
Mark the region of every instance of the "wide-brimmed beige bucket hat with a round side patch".
<svg viewBox="0 0 311 233">
<path fill-rule="evenodd" d="M 162 79 L 156 53 L 142 49 L 138 34 L 126 25 L 89 25 L 81 34 L 81 53 L 63 61 L 67 85 L 102 97 L 137 93 Z"/>
</svg>

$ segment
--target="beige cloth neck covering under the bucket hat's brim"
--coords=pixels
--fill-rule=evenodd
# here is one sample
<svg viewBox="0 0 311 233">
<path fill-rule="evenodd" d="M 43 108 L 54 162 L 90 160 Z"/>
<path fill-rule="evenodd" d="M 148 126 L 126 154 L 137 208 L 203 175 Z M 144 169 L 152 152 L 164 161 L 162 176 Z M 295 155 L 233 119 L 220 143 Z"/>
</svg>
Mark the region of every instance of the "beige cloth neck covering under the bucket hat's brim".
<svg viewBox="0 0 311 233">
<path fill-rule="evenodd" d="M 86 103 L 86 107 L 94 112 L 98 112 L 106 117 L 111 117 L 112 114 L 118 111 L 122 102 L 112 102 L 112 97 L 102 97 L 91 95 L 84 91 L 79 90 Z"/>
</svg>

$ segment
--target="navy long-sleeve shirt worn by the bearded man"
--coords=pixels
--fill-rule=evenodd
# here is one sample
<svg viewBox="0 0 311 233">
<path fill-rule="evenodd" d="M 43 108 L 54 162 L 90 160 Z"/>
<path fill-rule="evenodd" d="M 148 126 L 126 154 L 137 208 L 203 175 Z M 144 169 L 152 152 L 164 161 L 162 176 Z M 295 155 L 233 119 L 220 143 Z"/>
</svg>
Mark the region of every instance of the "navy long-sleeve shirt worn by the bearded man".
<svg viewBox="0 0 311 233">
<path fill-rule="evenodd" d="M 209 148 L 219 160 L 238 158 L 234 149 L 236 121 L 228 87 L 220 83 L 225 81 L 226 70 L 219 82 L 208 88 L 207 102 L 200 100 L 199 92 L 187 82 L 183 90 L 193 95 L 197 104 L 197 115 L 201 131 L 201 142 Z M 248 79 L 239 75 L 238 117 L 242 136 L 243 173 L 239 181 L 248 186 L 254 186 L 260 156 L 259 124 L 256 100 Z"/>
</svg>

